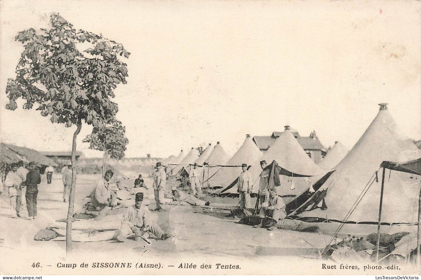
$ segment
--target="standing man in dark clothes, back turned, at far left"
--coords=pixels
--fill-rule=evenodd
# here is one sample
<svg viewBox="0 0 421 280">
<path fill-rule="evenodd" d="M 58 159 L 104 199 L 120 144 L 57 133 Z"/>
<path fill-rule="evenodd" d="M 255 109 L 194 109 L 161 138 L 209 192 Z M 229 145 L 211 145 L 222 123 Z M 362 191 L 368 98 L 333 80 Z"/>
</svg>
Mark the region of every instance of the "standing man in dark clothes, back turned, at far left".
<svg viewBox="0 0 421 280">
<path fill-rule="evenodd" d="M 35 167 L 35 162 L 31 161 L 29 163 L 29 172 L 25 181 L 25 185 L 27 186 L 25 197 L 28 209 L 28 219 L 35 219 L 37 217 L 37 195 L 38 184 L 40 183 L 40 171 Z"/>
</svg>

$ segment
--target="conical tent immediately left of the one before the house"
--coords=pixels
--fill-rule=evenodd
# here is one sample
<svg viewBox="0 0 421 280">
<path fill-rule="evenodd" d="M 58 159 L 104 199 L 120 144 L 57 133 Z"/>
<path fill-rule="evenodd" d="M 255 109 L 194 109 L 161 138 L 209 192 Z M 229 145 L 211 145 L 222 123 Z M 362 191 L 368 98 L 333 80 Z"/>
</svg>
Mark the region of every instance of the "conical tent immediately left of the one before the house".
<svg viewBox="0 0 421 280">
<path fill-rule="evenodd" d="M 242 165 L 243 163 L 250 165 L 258 160 L 263 155 L 263 152 L 256 146 L 251 139 L 250 135 L 247 134 L 244 143 L 240 149 L 231 157 L 226 165 Z M 208 181 L 210 187 L 226 187 L 231 184 L 240 175 L 242 168 L 239 167 L 223 167 L 218 173 L 215 174 Z M 234 186 L 229 191 L 237 191 L 237 187 Z"/>
</svg>

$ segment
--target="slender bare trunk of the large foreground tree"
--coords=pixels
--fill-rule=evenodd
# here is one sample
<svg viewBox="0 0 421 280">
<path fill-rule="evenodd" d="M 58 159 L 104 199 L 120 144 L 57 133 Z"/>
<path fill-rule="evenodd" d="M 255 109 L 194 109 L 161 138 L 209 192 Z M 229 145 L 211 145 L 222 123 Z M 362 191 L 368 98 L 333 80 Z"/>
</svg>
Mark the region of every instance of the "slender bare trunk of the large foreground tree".
<svg viewBox="0 0 421 280">
<path fill-rule="evenodd" d="M 77 121 L 77 128 L 73 133 L 72 142 L 72 186 L 70 187 L 69 195 L 69 211 L 67 212 L 67 224 L 66 224 L 66 255 L 69 255 L 72 251 L 72 218 L 73 211 L 75 210 L 75 187 L 76 187 L 76 137 L 80 133 L 82 128 L 82 121 Z"/>
</svg>

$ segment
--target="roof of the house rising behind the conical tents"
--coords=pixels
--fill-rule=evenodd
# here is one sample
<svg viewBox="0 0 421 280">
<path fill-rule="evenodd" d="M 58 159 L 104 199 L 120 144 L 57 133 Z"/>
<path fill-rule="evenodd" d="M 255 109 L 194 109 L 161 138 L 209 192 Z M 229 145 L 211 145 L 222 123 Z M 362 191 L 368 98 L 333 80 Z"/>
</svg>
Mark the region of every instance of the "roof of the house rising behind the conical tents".
<svg viewBox="0 0 421 280">
<path fill-rule="evenodd" d="M 279 137 L 280 133 L 281 132 L 274 131 L 272 133 L 272 136 L 254 136 L 253 137 L 253 141 L 254 141 L 254 143 L 256 143 L 257 147 L 261 151 L 265 151 L 265 150 L 269 149 L 270 146 L 272 146 L 272 144 L 275 142 L 275 140 L 277 139 L 277 137 Z M 291 133 L 294 135 L 293 132 L 291 132 Z M 297 135 L 297 133 L 295 133 L 295 135 Z M 298 143 L 300 144 L 300 146 L 304 150 L 320 150 L 320 151 L 326 151 L 325 147 L 320 142 L 320 140 L 319 140 L 319 138 L 317 136 L 314 136 L 314 137 L 311 137 L 311 136 L 308 136 L 308 137 L 307 136 L 305 136 L 305 137 L 298 136 L 298 137 L 296 137 L 295 135 L 294 135 L 294 137 L 297 139 Z"/>
</svg>

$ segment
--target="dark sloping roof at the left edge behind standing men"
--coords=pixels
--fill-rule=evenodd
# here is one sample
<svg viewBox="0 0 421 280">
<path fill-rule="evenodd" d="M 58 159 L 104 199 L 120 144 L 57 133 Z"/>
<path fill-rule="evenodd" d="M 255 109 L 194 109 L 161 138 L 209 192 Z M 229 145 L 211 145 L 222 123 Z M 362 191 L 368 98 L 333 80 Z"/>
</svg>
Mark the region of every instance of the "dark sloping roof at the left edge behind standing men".
<svg viewBox="0 0 421 280">
<path fill-rule="evenodd" d="M 54 160 L 33 149 L 5 143 L 1 143 L 0 160 L 5 163 L 13 163 L 22 160 L 24 162 L 35 161 L 35 163 L 43 165 L 48 165 L 50 163 L 54 166 L 57 165 Z"/>
</svg>

